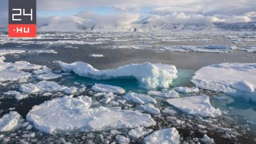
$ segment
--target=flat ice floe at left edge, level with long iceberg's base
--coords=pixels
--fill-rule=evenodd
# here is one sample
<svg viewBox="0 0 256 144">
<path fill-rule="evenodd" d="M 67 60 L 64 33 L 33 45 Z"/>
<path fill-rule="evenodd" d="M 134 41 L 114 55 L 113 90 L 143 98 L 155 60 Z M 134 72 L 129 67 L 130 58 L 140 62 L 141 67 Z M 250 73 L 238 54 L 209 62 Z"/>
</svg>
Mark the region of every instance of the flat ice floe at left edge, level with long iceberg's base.
<svg viewBox="0 0 256 144">
<path fill-rule="evenodd" d="M 22 72 L 20 70 L 0 70 L 0 81 L 17 81 L 28 77 L 31 77 L 31 74 L 28 72 Z"/>
</svg>

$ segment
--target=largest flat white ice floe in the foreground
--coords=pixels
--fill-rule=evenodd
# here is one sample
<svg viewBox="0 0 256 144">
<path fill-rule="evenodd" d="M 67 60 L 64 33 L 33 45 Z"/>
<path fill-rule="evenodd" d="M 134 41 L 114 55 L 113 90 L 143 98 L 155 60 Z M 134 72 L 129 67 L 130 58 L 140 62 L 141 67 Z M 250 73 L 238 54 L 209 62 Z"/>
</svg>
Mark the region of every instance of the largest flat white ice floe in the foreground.
<svg viewBox="0 0 256 144">
<path fill-rule="evenodd" d="M 36 129 L 47 133 L 92 132 L 156 125 L 156 122 L 148 114 L 104 107 L 90 108 L 91 104 L 90 97 L 65 96 L 34 106 L 26 118 L 33 123 Z"/>
</svg>

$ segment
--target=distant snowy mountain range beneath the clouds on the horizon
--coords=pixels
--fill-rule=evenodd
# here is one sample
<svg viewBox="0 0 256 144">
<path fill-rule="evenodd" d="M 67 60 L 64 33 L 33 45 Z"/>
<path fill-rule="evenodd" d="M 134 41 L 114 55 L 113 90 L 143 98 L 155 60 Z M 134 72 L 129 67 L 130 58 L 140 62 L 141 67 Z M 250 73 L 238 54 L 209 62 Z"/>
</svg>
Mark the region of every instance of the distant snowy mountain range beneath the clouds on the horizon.
<svg viewBox="0 0 256 144">
<path fill-rule="evenodd" d="M 7 31 L 7 28 L 0 28 L 0 31 Z M 256 22 L 237 22 L 233 24 L 166 24 L 144 22 L 125 26 L 64 22 L 61 24 L 50 23 L 38 26 L 38 31 L 256 31 Z"/>
</svg>

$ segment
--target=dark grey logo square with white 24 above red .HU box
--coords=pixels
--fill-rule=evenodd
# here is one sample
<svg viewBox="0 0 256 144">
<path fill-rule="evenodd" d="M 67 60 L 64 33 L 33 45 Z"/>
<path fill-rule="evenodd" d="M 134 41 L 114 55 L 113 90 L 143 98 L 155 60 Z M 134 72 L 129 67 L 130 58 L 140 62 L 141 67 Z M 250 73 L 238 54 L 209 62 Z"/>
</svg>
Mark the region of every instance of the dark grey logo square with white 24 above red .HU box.
<svg viewBox="0 0 256 144">
<path fill-rule="evenodd" d="M 16 15 L 15 19 L 21 19 L 20 21 L 12 20 L 13 13 L 19 14 L 19 11 L 13 11 L 12 9 L 22 9 L 22 15 Z M 31 13 L 33 9 L 33 20 L 30 15 L 23 15 L 23 9 L 25 13 Z M 9 24 L 36 24 L 36 0 L 9 0 Z"/>
</svg>

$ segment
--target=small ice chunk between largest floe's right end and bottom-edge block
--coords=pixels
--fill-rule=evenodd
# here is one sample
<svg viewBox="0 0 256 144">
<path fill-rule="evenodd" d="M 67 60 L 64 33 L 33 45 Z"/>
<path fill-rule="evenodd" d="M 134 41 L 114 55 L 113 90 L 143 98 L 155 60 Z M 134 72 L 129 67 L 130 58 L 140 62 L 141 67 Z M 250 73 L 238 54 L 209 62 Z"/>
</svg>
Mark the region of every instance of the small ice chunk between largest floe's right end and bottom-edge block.
<svg viewBox="0 0 256 144">
<path fill-rule="evenodd" d="M 135 129 L 131 129 L 131 131 L 128 132 L 128 135 L 133 139 L 141 138 L 142 136 L 146 136 L 152 132 L 152 129 L 145 129 L 144 127 L 137 127 Z"/>
</svg>

